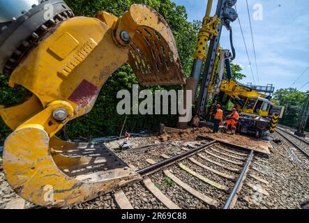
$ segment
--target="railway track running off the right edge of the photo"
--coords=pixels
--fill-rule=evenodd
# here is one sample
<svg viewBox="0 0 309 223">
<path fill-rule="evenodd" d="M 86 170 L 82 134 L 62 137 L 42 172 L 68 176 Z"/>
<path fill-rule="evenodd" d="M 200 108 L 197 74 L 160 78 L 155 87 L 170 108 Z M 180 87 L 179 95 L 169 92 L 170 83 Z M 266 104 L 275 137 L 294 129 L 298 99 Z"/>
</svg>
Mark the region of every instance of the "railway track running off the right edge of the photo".
<svg viewBox="0 0 309 223">
<path fill-rule="evenodd" d="M 309 168 L 309 141 L 282 128 L 277 128 L 276 132 L 292 145 L 292 148 L 288 148 L 289 157 L 292 161 L 301 164 L 305 168 Z"/>
</svg>

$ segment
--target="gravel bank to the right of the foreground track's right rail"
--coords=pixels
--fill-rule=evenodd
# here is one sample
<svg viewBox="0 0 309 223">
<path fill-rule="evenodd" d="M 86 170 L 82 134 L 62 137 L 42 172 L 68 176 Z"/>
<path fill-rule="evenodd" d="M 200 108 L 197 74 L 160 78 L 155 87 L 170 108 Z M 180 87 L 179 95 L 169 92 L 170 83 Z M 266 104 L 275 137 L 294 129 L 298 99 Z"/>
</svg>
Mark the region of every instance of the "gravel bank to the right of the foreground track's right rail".
<svg viewBox="0 0 309 223">
<path fill-rule="evenodd" d="M 278 134 L 274 135 L 279 137 Z M 236 208 L 269 208 L 269 209 L 297 209 L 301 208 L 300 203 L 309 199 L 309 171 L 303 167 L 294 164 L 289 160 L 285 151 L 285 144 L 278 145 L 271 142 L 273 150 L 269 159 L 259 158 L 265 162 L 255 160 L 252 167 L 258 169 L 256 171 L 250 168 L 248 174 L 255 174 L 269 182 L 269 186 L 259 183 L 252 178 L 246 178 L 247 182 L 260 185 L 269 192 L 269 197 L 262 196 L 257 192 L 252 192 L 245 185 L 241 191 L 240 197 L 246 194 L 252 201 L 257 204 L 249 204 L 248 202 L 237 202 Z"/>
</svg>

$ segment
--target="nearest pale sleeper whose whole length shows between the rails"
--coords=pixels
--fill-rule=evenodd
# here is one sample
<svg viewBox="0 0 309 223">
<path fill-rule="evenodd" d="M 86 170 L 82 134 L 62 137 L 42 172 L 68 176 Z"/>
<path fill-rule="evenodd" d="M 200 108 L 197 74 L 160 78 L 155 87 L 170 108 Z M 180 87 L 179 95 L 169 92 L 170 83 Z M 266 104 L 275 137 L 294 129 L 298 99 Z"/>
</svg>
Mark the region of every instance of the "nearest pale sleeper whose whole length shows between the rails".
<svg viewBox="0 0 309 223">
<path fill-rule="evenodd" d="M 211 208 L 216 208 L 218 206 L 218 201 L 213 200 L 210 197 L 207 197 L 205 194 L 198 192 L 197 190 L 190 187 L 188 184 L 183 183 L 181 180 L 179 180 L 179 178 L 174 176 L 174 174 L 172 174 L 170 171 L 165 170 L 164 174 L 167 177 L 171 178 L 174 181 L 174 183 L 182 187 L 183 190 L 186 190 L 188 193 L 192 194 L 197 199 L 203 201 L 204 203 L 207 203 L 209 206 L 211 206 Z"/>
</svg>

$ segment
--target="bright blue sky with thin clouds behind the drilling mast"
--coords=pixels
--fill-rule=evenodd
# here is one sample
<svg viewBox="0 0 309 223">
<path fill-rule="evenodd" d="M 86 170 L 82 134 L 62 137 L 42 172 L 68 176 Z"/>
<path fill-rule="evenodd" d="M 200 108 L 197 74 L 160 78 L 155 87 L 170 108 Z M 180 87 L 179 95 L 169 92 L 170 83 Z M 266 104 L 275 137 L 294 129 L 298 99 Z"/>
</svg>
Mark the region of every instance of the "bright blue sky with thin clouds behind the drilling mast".
<svg viewBox="0 0 309 223">
<path fill-rule="evenodd" d="M 178 5 L 186 6 L 188 20 L 202 20 L 204 17 L 207 0 L 172 1 Z M 236 7 L 253 66 L 255 82 L 259 85 L 273 84 L 276 89 L 288 88 L 309 66 L 309 1 L 248 0 L 248 3 L 255 39 L 259 83 L 257 83 L 257 71 L 253 56 L 246 1 L 238 0 Z M 253 19 L 256 4 L 262 5 L 262 20 Z M 214 0 L 211 15 L 214 15 L 216 6 L 217 1 Z M 253 83 L 248 56 L 237 20 L 232 23 L 232 28 L 234 30 L 234 47 L 237 54 L 234 63 L 239 63 L 243 68 L 243 73 L 247 75 L 242 82 L 244 84 Z M 230 49 L 229 33 L 225 28 L 221 37 L 221 47 Z M 307 82 L 309 82 L 309 69 L 294 84 L 294 87 L 300 89 Z M 301 89 L 301 91 L 308 90 L 309 84 Z"/>
</svg>

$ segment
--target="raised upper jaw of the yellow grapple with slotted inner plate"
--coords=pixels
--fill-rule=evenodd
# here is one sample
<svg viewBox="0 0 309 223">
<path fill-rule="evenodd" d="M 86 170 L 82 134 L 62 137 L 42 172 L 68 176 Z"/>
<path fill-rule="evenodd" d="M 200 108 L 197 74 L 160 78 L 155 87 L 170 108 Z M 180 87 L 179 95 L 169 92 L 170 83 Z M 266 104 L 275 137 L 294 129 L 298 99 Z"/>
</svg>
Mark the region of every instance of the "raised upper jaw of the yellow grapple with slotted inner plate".
<svg viewBox="0 0 309 223">
<path fill-rule="evenodd" d="M 142 86 L 185 84 L 172 30 L 156 10 L 134 4 L 116 25 L 115 36 L 123 30 L 130 33 L 128 62 Z"/>
</svg>

